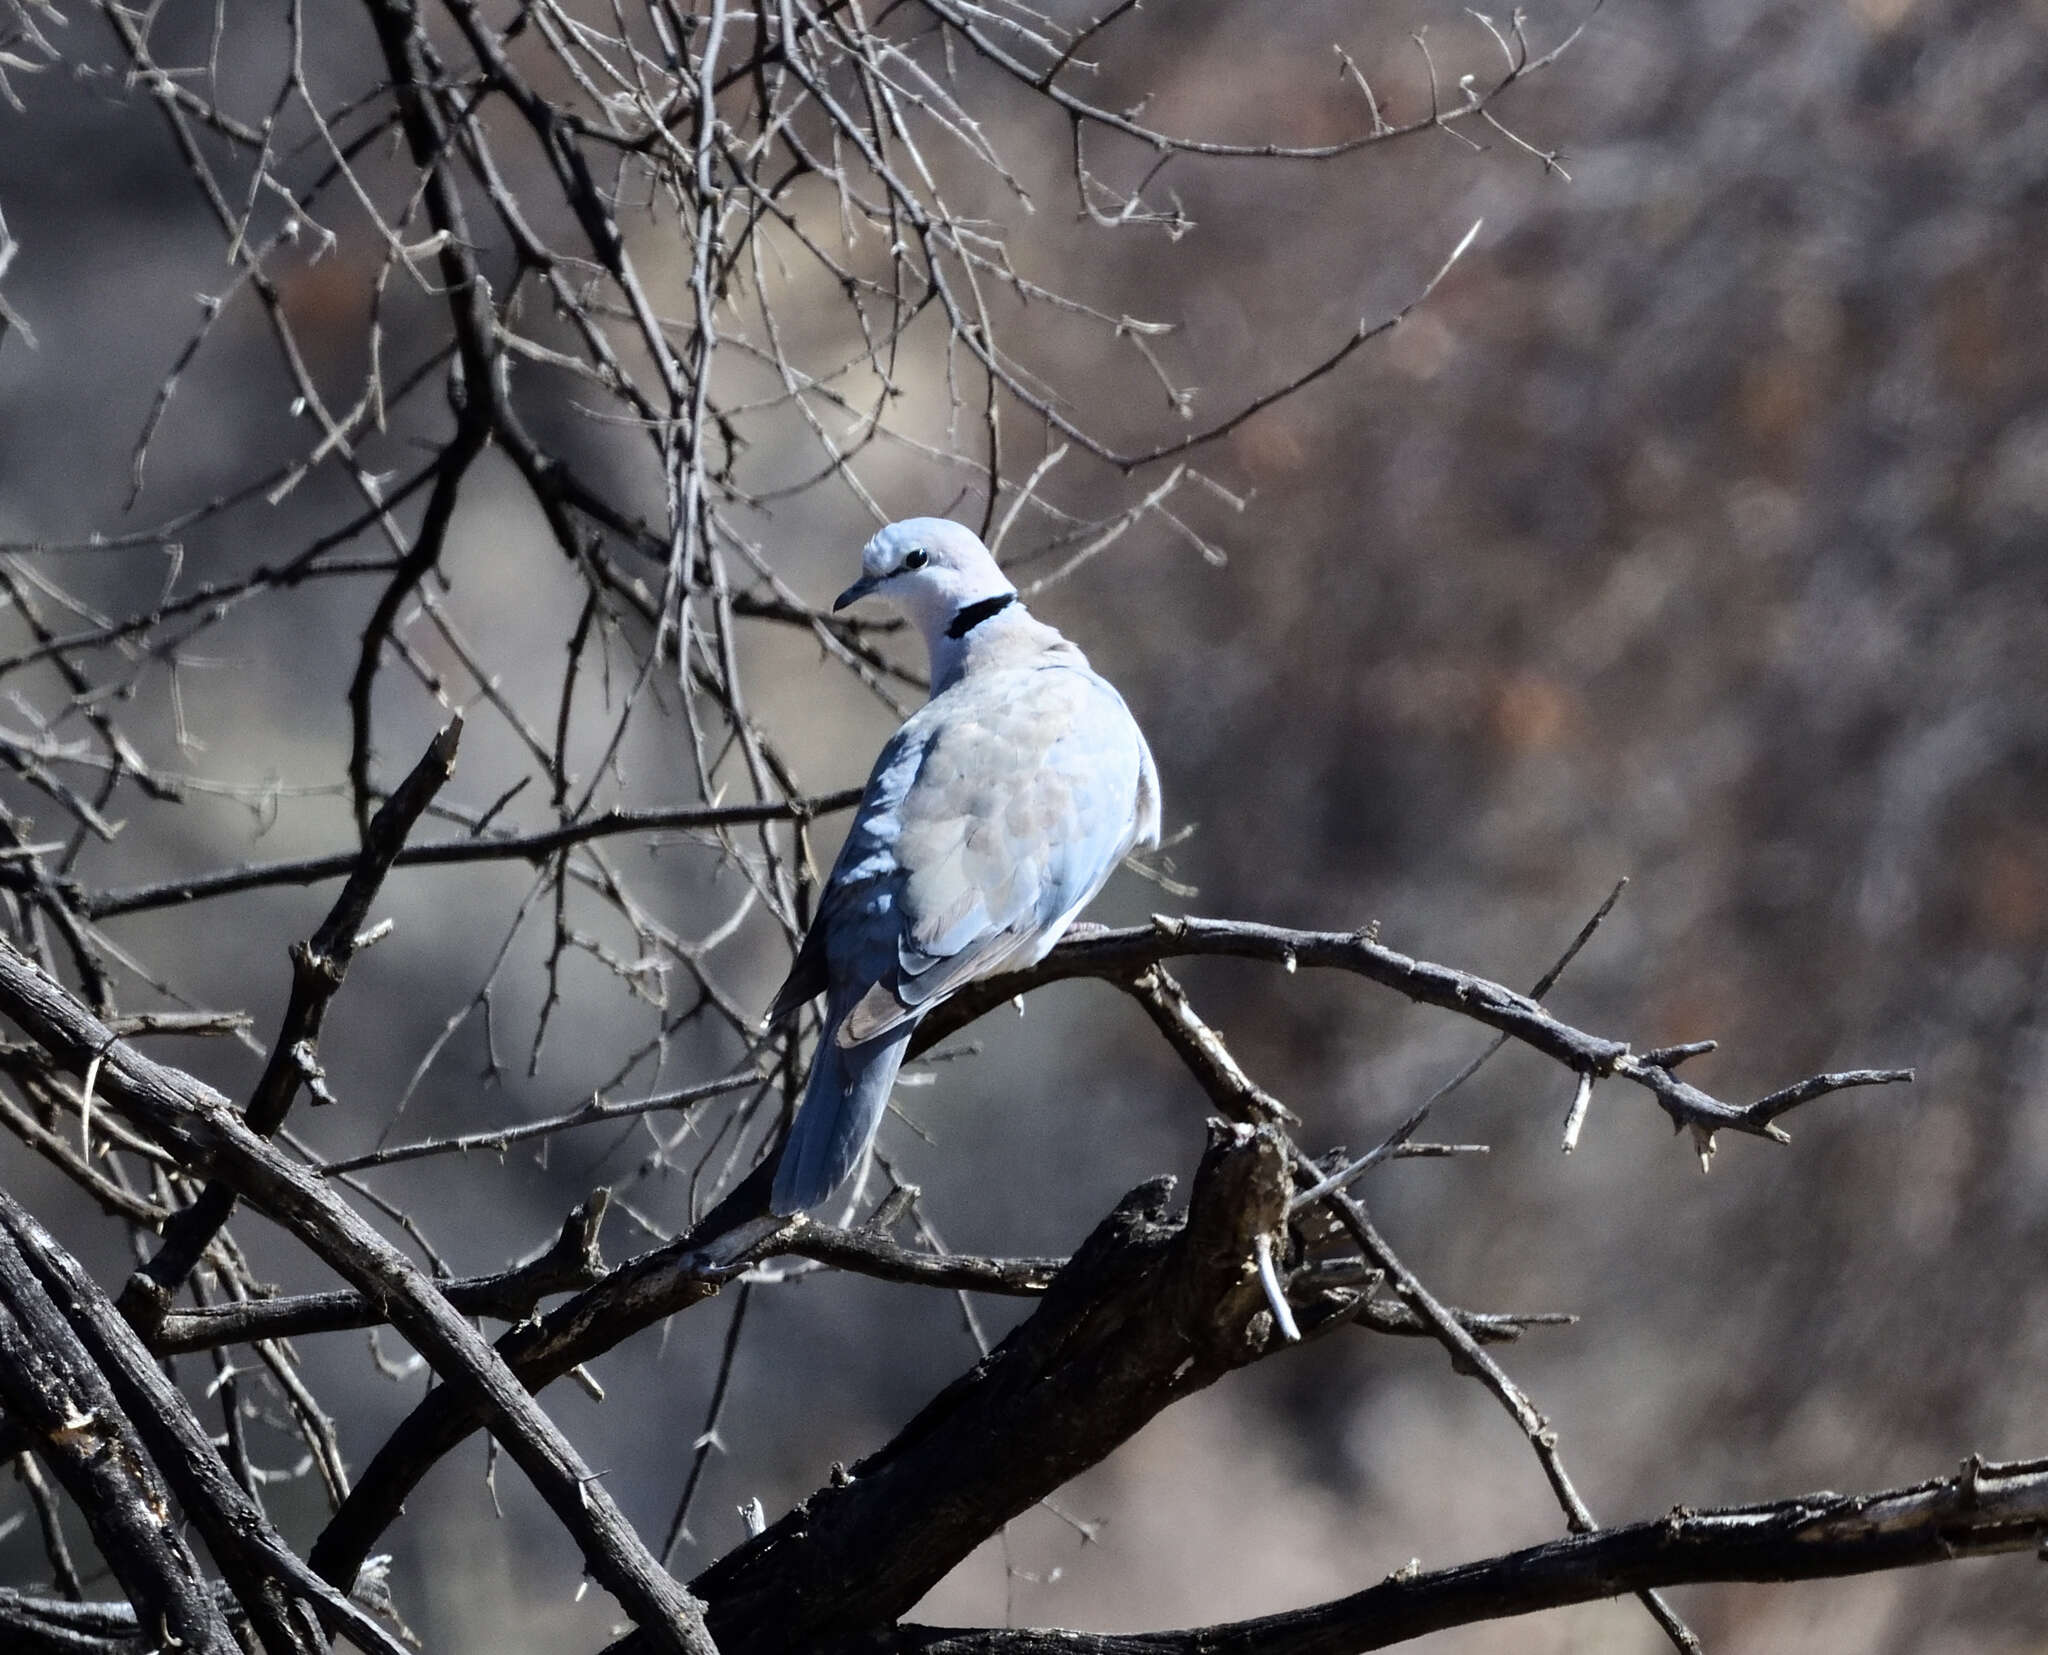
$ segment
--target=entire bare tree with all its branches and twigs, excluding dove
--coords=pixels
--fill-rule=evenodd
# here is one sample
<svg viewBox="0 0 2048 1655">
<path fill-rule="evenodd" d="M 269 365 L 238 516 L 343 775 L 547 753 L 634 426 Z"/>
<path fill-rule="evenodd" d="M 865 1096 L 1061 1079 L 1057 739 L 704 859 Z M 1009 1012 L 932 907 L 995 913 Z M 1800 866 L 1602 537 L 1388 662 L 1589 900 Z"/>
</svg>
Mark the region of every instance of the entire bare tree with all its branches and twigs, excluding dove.
<svg viewBox="0 0 2048 1655">
<path fill-rule="evenodd" d="M 242 1635 L 270 1651 L 332 1637 L 395 1649 L 406 1635 L 373 1548 L 428 1469 L 485 1430 L 614 1594 L 635 1645 L 727 1655 L 1042 1647 L 1040 1635 L 940 1635 L 897 1622 L 1010 1518 L 1145 1419 L 1339 1327 L 1432 1338 L 1479 1376 L 1526 1434 L 1573 1538 L 1268 1622 L 1057 1647 L 1366 1649 L 1616 1592 L 1642 1594 L 1671 1639 L 1692 1647 L 1659 1585 L 1894 1567 L 2034 1544 L 2048 1532 L 2040 1467 L 1968 1467 L 1864 1503 L 1812 1497 L 1599 1530 L 1554 1434 L 1487 1350 L 1561 1317 L 1446 1307 L 1356 1194 L 1380 1161 L 1468 1147 L 1417 1141 L 1430 1104 L 1364 1157 L 1296 1145 L 1284 1104 L 1239 1067 L 1167 961 L 1233 954 L 1286 971 L 1348 971 L 1470 1018 L 1569 1071 L 1567 1147 L 1599 1081 L 1647 1092 L 1704 1157 L 1716 1131 L 1782 1137 L 1776 1118 L 1810 1098 L 1903 1077 L 1815 1075 L 1731 1106 L 1675 1073 L 1704 1043 L 1636 1053 L 1556 1020 L 1540 1004 L 1556 973 L 1520 995 L 1370 934 L 1217 920 L 1075 936 L 1032 971 L 958 995 L 920 1043 L 928 1049 L 1061 977 L 1096 977 L 1133 995 L 1221 1116 L 1186 1213 L 1169 1213 L 1159 1184 L 1143 1186 L 1071 1260 L 946 1254 L 907 1186 L 889 1188 L 879 1206 L 850 1208 L 842 1225 L 762 1217 L 768 1151 L 801 1051 L 795 1032 L 782 1047 L 756 1043 L 756 1008 L 713 957 L 743 924 L 774 926 L 786 940 L 801 934 L 811 897 L 805 832 L 852 803 L 844 789 L 807 787 L 758 717 L 762 629 L 815 641 L 850 682 L 891 705 L 918 682 L 881 629 L 799 594 L 770 514 L 815 494 L 881 518 L 887 479 L 913 465 L 956 479 L 950 508 L 979 518 L 997 551 L 1032 547 L 1042 559 L 1032 590 L 1141 524 L 1210 553 L 1184 506 L 1200 492 L 1229 496 L 1196 469 L 1198 451 L 1399 322 L 1360 324 L 1235 406 L 1200 406 L 1169 354 L 1167 322 L 1090 303 L 1034 274 L 1042 260 L 1020 225 L 1030 221 L 1032 174 L 1044 168 L 1036 150 L 1022 160 L 1010 152 L 1010 125 L 1034 119 L 1063 137 L 1067 186 L 1092 227 L 1163 236 L 1188 227 L 1174 178 L 1192 164 L 1337 162 L 1417 133 L 1470 129 L 1554 166 L 1495 111 L 1501 92 L 1556 55 L 1530 47 L 1520 16 L 1507 27 L 1481 18 L 1487 70 L 1460 76 L 1454 94 L 1440 90 L 1436 57 L 1417 43 L 1430 92 L 1405 119 L 1339 53 L 1358 94 L 1356 133 L 1290 145 L 1184 135 L 1151 125 L 1143 109 L 1077 90 L 1130 0 L 1079 27 L 1008 0 L 766 0 L 754 10 L 723 0 L 530 0 L 504 14 L 475 0 L 365 0 L 332 8 L 346 10 L 350 27 L 367 23 L 375 41 L 375 72 L 340 96 L 324 90 L 340 25 L 328 8 L 289 0 L 281 68 L 254 100 L 221 74 L 223 23 L 174 16 L 176 6 L 143 12 L 106 0 L 92 10 L 111 31 L 115 61 L 94 68 L 82 57 L 80 76 L 98 74 L 154 104 L 231 266 L 227 285 L 203 299 L 150 410 L 133 494 L 176 416 L 182 375 L 223 317 L 250 311 L 268 330 L 305 440 L 281 465 L 236 477 L 152 528 L 0 547 L 0 602 L 16 631 L 0 682 L 25 719 L 0 727 L 10 778 L 0 889 L 12 938 L 0 944 L 0 1014 L 23 1036 L 0 1047 L 0 1124 L 121 1221 L 139 1260 L 109 1297 L 35 1215 L 0 1194 L 0 1436 L 45 1534 L 53 1594 L 0 1594 L 8 1637 L 39 1649 L 225 1649 Z M 37 55 L 0 55 L 0 66 L 27 72 L 55 57 L 55 12 L 14 0 L 12 14 L 0 51 L 23 39 Z M 166 57 L 172 20 L 197 23 L 201 35 L 211 27 L 209 51 Z M 1012 107 L 1026 115 L 995 119 Z M 0 279 L 10 250 L 0 227 Z M 291 301 L 293 272 L 322 260 L 356 260 L 365 299 L 362 369 L 342 393 L 311 367 L 319 352 Z M 668 274 L 655 279 L 655 268 Z M 668 303 L 678 295 L 680 311 Z M 0 307 L 6 326 L 18 322 Z M 1128 352 L 1171 434 L 1133 438 L 1077 412 L 1057 373 L 1071 340 Z M 623 430 L 627 459 L 600 463 L 612 449 L 592 440 L 594 426 L 614 447 Z M 510 461 L 580 582 L 567 662 L 543 711 L 506 690 L 500 662 L 465 631 L 442 576 L 451 526 L 489 453 Z M 1102 498 L 1079 483 L 1055 487 L 1083 467 L 1118 479 L 1108 510 L 1055 504 Z M 340 479 L 350 506 L 303 545 L 256 567 L 188 576 L 188 543 L 276 508 L 315 477 Z M 109 557 L 154 567 L 154 596 L 123 610 L 84 596 L 70 569 Z M 180 879 L 88 881 L 84 852 L 113 842 L 127 813 L 195 791 L 281 809 L 291 789 L 203 774 L 190 762 L 199 737 L 184 725 L 180 686 L 195 649 L 229 617 L 274 606 L 289 627 L 291 604 L 315 588 L 354 594 L 360 647 L 346 690 L 346 774 L 305 791 L 344 793 L 358 842 Z M 395 782 L 379 768 L 389 744 L 379 729 L 395 721 L 399 696 L 391 676 L 455 715 Z M 123 723 L 135 701 L 172 709 L 176 762 L 152 758 L 150 741 Z M 602 705 L 594 737 L 590 703 Z M 469 805 L 444 795 L 463 715 L 494 721 L 524 754 L 516 776 Z M 618 758 L 649 723 L 672 737 L 682 797 L 623 803 Z M 29 819 L 33 795 L 63 823 L 47 838 Z M 420 832 L 428 819 L 440 830 Z M 655 834 L 688 836 L 741 883 L 735 911 L 700 938 L 664 924 L 612 854 L 621 840 Z M 524 1030 L 528 1069 L 571 961 L 594 961 L 647 1002 L 653 1030 L 575 1108 L 324 1159 L 289 1116 L 301 1096 L 334 1096 L 322 1026 L 354 954 L 383 936 L 371 914 L 385 875 L 455 862 L 524 864 L 532 875 L 489 975 L 420 1057 L 414 1086 L 471 1022 L 483 1024 L 498 1061 L 502 973 L 524 959 L 512 944 L 528 922 L 545 932 L 537 969 L 547 981 Z M 137 959 L 117 926 L 330 879 L 344 889 L 295 948 L 291 1000 L 272 1030 L 186 1004 L 178 973 Z M 125 1012 L 135 1000 L 160 1010 Z M 686 1030 L 715 1030 L 729 1065 L 674 1081 L 668 1065 Z M 139 1051 L 166 1032 L 242 1038 L 264 1055 L 260 1079 L 248 1098 L 227 1100 Z M 393 1122 L 403 1104 L 395 1100 Z M 375 1182 L 399 1161 L 664 1112 L 686 1131 L 664 1137 L 649 1124 L 649 1165 L 672 1165 L 694 1135 L 686 1223 L 637 1211 L 629 1188 L 598 1190 L 551 1247 L 487 1276 L 455 1278 L 416 1215 Z M 303 1241 L 342 1286 L 276 1297 L 236 1235 L 240 1206 Z M 627 1213 L 655 1245 L 606 1264 L 598 1229 L 608 1211 Z M 897 1239 L 905 1223 L 920 1227 L 920 1243 Z M 594 1387 L 584 1366 L 592 1358 L 727 1288 L 743 1307 L 743 1295 L 811 1268 L 1038 1303 L 895 1442 L 682 1585 L 668 1563 L 705 1450 L 655 1548 L 537 1397 L 563 1376 Z M 485 1340 L 485 1317 L 508 1327 Z M 360 1327 L 401 1333 L 440 1383 L 352 1475 L 291 1342 Z M 705 1442 L 741 1329 L 735 1313 Z M 242 1350 L 248 1360 L 231 1354 Z M 166 1362 L 188 1354 L 211 1362 L 219 1438 L 166 1376 Z M 328 1495 L 330 1520 L 303 1557 L 262 1508 L 276 1473 L 246 1440 L 258 1415 L 303 1440 L 305 1471 Z M 45 1473 L 82 1512 L 125 1608 L 84 1600 Z M 944 1499 L 934 1499 L 940 1487 Z M 172 1510 L 217 1579 L 168 1520 Z"/>
</svg>

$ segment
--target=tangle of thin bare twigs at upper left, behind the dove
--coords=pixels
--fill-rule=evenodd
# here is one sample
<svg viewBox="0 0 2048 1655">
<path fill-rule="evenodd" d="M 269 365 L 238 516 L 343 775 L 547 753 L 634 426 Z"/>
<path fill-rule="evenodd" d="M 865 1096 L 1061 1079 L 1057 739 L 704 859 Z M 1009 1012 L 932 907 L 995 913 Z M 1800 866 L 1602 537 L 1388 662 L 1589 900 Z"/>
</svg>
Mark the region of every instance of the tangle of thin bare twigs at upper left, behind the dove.
<svg viewBox="0 0 2048 1655">
<path fill-rule="evenodd" d="M 664 1034 L 702 1014 L 743 1036 L 748 1008 L 717 981 L 709 954 L 754 907 L 791 934 L 801 928 L 807 864 L 774 823 L 801 823 L 831 801 L 807 797 L 750 711 L 748 625 L 813 637 L 891 707 L 891 686 L 918 686 L 879 647 L 874 633 L 889 623 L 836 619 L 791 586 L 764 533 L 778 504 L 844 496 L 879 520 L 874 479 L 913 463 L 938 479 L 950 473 L 954 481 L 934 487 L 950 490 L 950 508 L 977 516 L 999 553 L 1014 537 L 1030 539 L 1030 561 L 1047 563 L 1032 590 L 1139 524 L 1161 524 L 1217 555 L 1178 510 L 1190 490 L 1229 500 L 1192 457 L 1399 322 L 1362 322 L 1286 381 L 1198 420 L 1196 393 L 1163 354 L 1169 322 L 1110 313 L 1028 274 L 1034 260 L 1014 225 L 1032 221 L 1032 201 L 983 102 L 1022 90 L 1057 115 L 1075 201 L 1090 219 L 1174 231 L 1182 227 L 1167 174 L 1176 160 L 1331 162 L 1425 131 L 1505 131 L 1493 100 L 1563 49 L 1536 55 L 1520 18 L 1505 33 L 1487 25 L 1499 49 L 1489 84 L 1464 76 L 1454 100 L 1432 90 L 1427 111 L 1399 123 L 1346 59 L 1360 92 L 1358 133 L 1286 145 L 1169 133 L 1071 90 L 1098 68 L 1087 53 L 1128 6 L 1071 29 L 1028 8 L 952 4 L 889 6 L 877 18 L 797 0 L 694 12 L 653 0 L 631 18 L 623 8 L 535 4 L 494 23 L 477 4 L 428 12 L 391 0 L 360 8 L 375 31 L 379 80 L 322 98 L 309 63 L 336 49 L 336 25 L 289 4 L 281 74 L 254 100 L 223 86 L 223 18 L 207 25 L 203 61 L 168 63 L 156 37 L 174 18 L 98 10 L 119 47 L 121 82 L 156 102 L 231 266 L 227 285 L 203 295 L 199 326 L 143 422 L 129 504 L 141 496 L 182 379 L 225 320 L 244 311 L 274 342 L 307 440 L 262 475 L 150 528 L 0 545 L 8 559 L 0 596 L 23 625 L 0 657 L 0 680 L 20 686 L 16 705 L 35 709 L 31 729 L 0 731 L 0 764 L 72 823 L 61 850 L 31 852 L 16 834 L 6 875 L 59 932 L 96 1004 L 117 950 L 94 922 L 338 875 L 344 864 L 330 856 L 147 889 L 68 883 L 86 842 L 111 840 L 109 811 L 127 795 L 174 803 L 211 791 L 274 813 L 289 795 L 281 784 L 152 762 L 109 709 L 162 698 L 180 756 L 190 758 L 199 744 L 182 686 L 205 637 L 252 604 L 332 584 L 360 588 L 367 621 L 348 686 L 346 776 L 358 828 L 383 789 L 377 717 L 393 694 L 381 688 L 393 668 L 442 707 L 487 711 L 528 758 L 526 774 L 485 805 L 436 807 L 457 821 L 461 844 L 412 852 L 535 866 L 512 930 L 541 911 L 553 942 L 528 1067 L 569 957 L 596 959 L 635 991 L 678 1006 Z M 35 14 L 20 12 L 23 29 Z M 47 45 L 43 33 L 35 41 Z M 1434 88 L 1434 57 L 1419 49 Z M 541 166 L 502 123 L 524 129 Z M 1145 156 L 1143 178 L 1112 184 L 1106 150 L 1118 160 Z M 1006 211 L 987 211 L 991 190 Z M 641 223 L 653 229 L 641 236 Z M 1470 236 L 1452 260 L 1468 244 Z M 0 256 L 6 246 L 0 238 Z M 365 303 L 360 377 L 342 391 L 313 371 L 322 340 L 295 317 L 289 295 L 291 277 L 324 260 L 352 260 L 348 281 Z M 643 277 L 649 262 L 686 272 L 680 315 Z M 438 324 L 395 330 L 393 311 L 422 299 Z M 1059 352 L 1075 348 L 1069 336 L 1081 348 L 1128 352 L 1182 428 L 1149 447 L 1118 447 L 1085 424 L 1055 377 Z M 453 428 L 430 406 L 436 391 Z M 633 432 L 647 485 L 602 475 L 588 436 L 537 434 L 565 410 L 571 426 Z M 440 578 L 430 580 L 485 453 L 512 461 L 584 588 L 547 713 L 502 692 L 500 664 L 465 635 Z M 604 467 L 633 459 L 606 451 Z M 1081 461 L 1135 475 L 1137 490 L 1106 514 L 1061 510 L 1055 471 Z M 315 475 L 344 479 L 354 510 L 289 557 L 186 578 L 193 539 L 274 512 Z M 106 614 L 70 590 L 68 565 L 109 555 L 162 557 L 156 600 Z M 604 705 L 606 733 L 580 750 L 578 721 L 592 698 Z M 604 809 L 629 731 L 668 719 L 686 746 L 696 803 Z M 733 791 L 752 803 L 723 807 Z M 526 809 L 543 799 L 551 828 L 498 825 L 514 801 Z M 662 828 L 711 836 L 745 879 L 741 909 L 702 940 L 664 928 L 604 854 L 610 836 Z M 618 942 L 580 922 L 586 905 L 616 924 Z M 670 973 L 692 991 L 670 989 Z M 487 981 L 463 1020 L 487 1020 L 492 1004 Z"/>
</svg>

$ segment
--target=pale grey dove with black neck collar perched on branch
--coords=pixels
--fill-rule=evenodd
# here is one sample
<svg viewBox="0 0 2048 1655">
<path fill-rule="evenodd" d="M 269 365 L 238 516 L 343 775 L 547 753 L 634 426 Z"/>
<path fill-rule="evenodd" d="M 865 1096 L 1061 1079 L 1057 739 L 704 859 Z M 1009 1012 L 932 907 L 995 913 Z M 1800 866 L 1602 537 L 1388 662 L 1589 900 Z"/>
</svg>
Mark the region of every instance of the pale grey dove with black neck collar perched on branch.
<svg viewBox="0 0 2048 1655">
<path fill-rule="evenodd" d="M 932 698 L 883 748 L 768 1024 L 825 995 L 770 1204 L 801 1213 L 854 1168 L 918 1020 L 1034 965 L 1137 844 L 1159 772 L 1120 694 L 1036 621 L 981 541 L 907 518 L 834 608 L 893 602 L 932 651 Z"/>
</svg>

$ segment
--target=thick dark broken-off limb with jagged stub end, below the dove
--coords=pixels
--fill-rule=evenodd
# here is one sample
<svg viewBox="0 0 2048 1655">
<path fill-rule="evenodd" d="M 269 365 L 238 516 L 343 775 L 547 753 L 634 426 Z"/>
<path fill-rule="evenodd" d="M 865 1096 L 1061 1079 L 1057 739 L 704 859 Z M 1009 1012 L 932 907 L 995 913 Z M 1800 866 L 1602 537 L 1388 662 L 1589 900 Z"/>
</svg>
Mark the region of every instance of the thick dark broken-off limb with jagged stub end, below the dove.
<svg viewBox="0 0 2048 1655">
<path fill-rule="evenodd" d="M 1270 1129 L 1219 1127 L 1184 1221 L 1157 1180 L 1081 1243 L 1034 1315 L 844 1481 L 692 1581 L 725 1655 L 893 1620 L 1159 1409 L 1274 1340 L 1255 1235 L 1286 1221 Z"/>
</svg>

